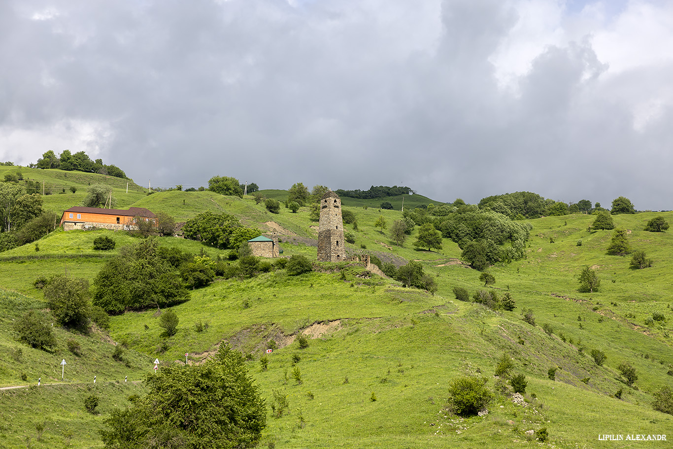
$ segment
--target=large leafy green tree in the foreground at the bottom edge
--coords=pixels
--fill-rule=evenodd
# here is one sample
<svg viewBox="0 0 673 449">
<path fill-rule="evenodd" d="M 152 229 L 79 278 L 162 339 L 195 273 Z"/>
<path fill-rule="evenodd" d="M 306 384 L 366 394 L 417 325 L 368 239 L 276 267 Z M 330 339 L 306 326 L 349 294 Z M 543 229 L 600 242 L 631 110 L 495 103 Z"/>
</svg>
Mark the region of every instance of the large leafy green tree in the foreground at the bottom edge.
<svg viewBox="0 0 673 449">
<path fill-rule="evenodd" d="M 201 365 L 162 366 L 145 383 L 144 397 L 105 419 L 107 449 L 251 448 L 266 427 L 264 399 L 229 345 Z"/>
</svg>

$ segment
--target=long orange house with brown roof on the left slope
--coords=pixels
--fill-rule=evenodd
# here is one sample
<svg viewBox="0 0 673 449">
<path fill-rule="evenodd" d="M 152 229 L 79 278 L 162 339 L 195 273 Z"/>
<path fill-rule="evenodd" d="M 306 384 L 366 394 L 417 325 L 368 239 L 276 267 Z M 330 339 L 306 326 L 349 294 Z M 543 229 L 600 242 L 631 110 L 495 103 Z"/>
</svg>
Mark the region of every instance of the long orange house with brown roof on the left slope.
<svg viewBox="0 0 673 449">
<path fill-rule="evenodd" d="M 75 206 L 63 212 L 61 226 L 64 231 L 92 228 L 128 231 L 137 229 L 137 219 L 153 221 L 156 224 L 157 215 L 144 207 L 129 207 L 125 210 Z"/>
</svg>

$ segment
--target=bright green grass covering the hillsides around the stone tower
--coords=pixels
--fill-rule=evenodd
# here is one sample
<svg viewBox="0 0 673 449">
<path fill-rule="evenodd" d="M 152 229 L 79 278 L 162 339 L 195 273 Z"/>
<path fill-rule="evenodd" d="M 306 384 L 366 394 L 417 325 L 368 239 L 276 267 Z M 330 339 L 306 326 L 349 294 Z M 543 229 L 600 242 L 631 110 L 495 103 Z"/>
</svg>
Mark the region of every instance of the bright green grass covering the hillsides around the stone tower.
<svg viewBox="0 0 673 449">
<path fill-rule="evenodd" d="M 136 192 L 135 201 L 124 207 L 166 211 L 178 221 L 207 209 L 223 210 L 265 232 L 280 228 L 283 256 L 316 256 L 312 243 L 318 223 L 310 221 L 308 207 L 271 214 L 252 197 Z M 269 191 L 266 195 L 272 197 Z M 282 195 L 277 193 L 279 199 Z M 405 196 L 405 207 L 413 197 L 421 199 Z M 379 210 L 378 205 L 365 209 L 350 199 L 343 205 L 358 221 L 356 243 L 349 251 L 398 263 L 420 261 L 435 275 L 437 293 L 368 277 L 363 267 L 345 264 L 325 264 L 298 277 L 279 270 L 252 279 L 219 279 L 172 308 L 180 318 L 174 337 L 161 337 L 155 310 L 128 312 L 112 317 L 109 334 L 73 335 L 57 329 L 59 349 L 50 354 L 18 343 L 11 331 L 11 320 L 22 311 L 44 308 L 34 279 L 67 271 L 91 280 L 120 246 L 135 238 L 107 231 L 54 232 L 39 240 L 39 252 L 26 245 L 0 254 L 0 384 L 33 385 L 39 376 L 43 382 L 57 382 L 63 358 L 67 372 L 73 369 L 65 386 L 0 392 L 0 447 L 26 447 L 27 436 L 33 448 L 59 446 L 67 436 L 64 428 L 73 429 L 73 447 L 102 447 L 96 440 L 102 419 L 113 407 L 127 407 L 131 394 L 143 394 L 142 384 L 125 384 L 123 376 L 141 379 L 155 358 L 162 364 L 184 363 L 189 353 L 190 363 L 199 363 L 224 341 L 250 354 L 248 370 L 269 408 L 274 390 L 287 394 L 289 413 L 275 418 L 269 409 L 260 447 L 273 442 L 277 448 L 511 448 L 536 444 L 528 442 L 525 432 L 541 427 L 549 434 L 544 445 L 557 448 L 593 448 L 599 434 L 673 435 L 673 416 L 651 409 L 652 393 L 673 386 L 673 237 L 642 231 L 651 217 L 664 215 L 672 221 L 673 213 L 614 216 L 616 226 L 629 230 L 631 246 L 653 259 L 653 267 L 641 270 L 629 268 L 629 256 L 606 254 L 612 232 L 588 232 L 592 216 L 530 221 L 527 258 L 489 270 L 496 279 L 489 288 L 500 294 L 509 291 L 517 308 L 493 312 L 454 299 L 454 286 L 470 293 L 486 289 L 478 271 L 458 262 L 460 248 L 454 242 L 445 239 L 437 252 L 417 250 L 414 232 L 404 246 L 395 246 L 374 222 L 383 216 L 390 226 L 402 217 L 400 210 Z M 100 235 L 117 241 L 112 254 L 92 250 L 93 239 Z M 194 253 L 205 250 L 213 257 L 226 254 L 180 238 L 161 238 L 160 244 Z M 577 291 L 584 265 L 598 271 L 599 291 Z M 524 308 L 532 310 L 534 326 L 522 320 Z M 665 319 L 651 320 L 653 312 Z M 208 324 L 207 329 L 199 331 L 199 323 Z M 312 337 L 306 349 L 295 341 L 299 332 Z M 81 357 L 67 350 L 66 342 L 73 338 L 82 346 Z M 278 349 L 268 355 L 269 369 L 262 370 L 260 357 L 269 341 Z M 110 342 L 127 348 L 125 363 L 112 359 Z M 17 349 L 22 349 L 20 356 Z M 591 357 L 592 349 L 606 354 L 602 366 Z M 458 376 L 485 376 L 489 389 L 500 390 L 493 372 L 503 354 L 513 360 L 513 372 L 528 380 L 526 406 L 496 393 L 484 417 L 462 419 L 448 413 L 448 384 Z M 638 375 L 633 388 L 621 380 L 617 368 L 625 361 Z M 549 368 L 557 368 L 555 380 L 548 378 Z M 102 382 L 94 386 L 96 373 Z M 22 383 L 22 374 L 27 382 Z M 102 398 L 98 415 L 86 413 L 82 405 L 94 388 Z M 621 399 L 616 399 L 619 390 Z M 59 402 L 62 396 L 67 398 Z M 37 442 L 35 423 L 42 417 L 46 430 Z"/>
</svg>

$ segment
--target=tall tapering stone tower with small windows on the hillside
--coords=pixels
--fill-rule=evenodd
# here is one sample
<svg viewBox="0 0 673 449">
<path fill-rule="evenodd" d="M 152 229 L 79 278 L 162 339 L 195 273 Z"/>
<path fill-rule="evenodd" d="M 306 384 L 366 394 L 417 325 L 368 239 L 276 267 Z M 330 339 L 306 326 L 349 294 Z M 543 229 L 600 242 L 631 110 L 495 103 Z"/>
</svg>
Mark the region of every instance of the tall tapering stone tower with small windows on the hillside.
<svg viewBox="0 0 673 449">
<path fill-rule="evenodd" d="M 345 261 L 346 247 L 341 219 L 341 199 L 327 191 L 320 199 L 320 223 L 318 226 L 318 261 Z"/>
</svg>

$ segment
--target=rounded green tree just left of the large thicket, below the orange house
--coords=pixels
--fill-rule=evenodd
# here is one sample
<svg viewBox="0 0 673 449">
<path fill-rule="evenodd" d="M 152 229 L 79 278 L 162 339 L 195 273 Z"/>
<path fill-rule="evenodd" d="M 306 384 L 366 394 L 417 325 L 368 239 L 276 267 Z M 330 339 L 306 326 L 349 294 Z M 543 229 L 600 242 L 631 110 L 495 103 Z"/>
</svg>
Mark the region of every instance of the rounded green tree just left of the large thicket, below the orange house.
<svg viewBox="0 0 673 449">
<path fill-rule="evenodd" d="M 44 299 L 59 323 L 86 329 L 91 313 L 89 282 L 86 279 L 56 276 L 44 287 Z"/>
</svg>

